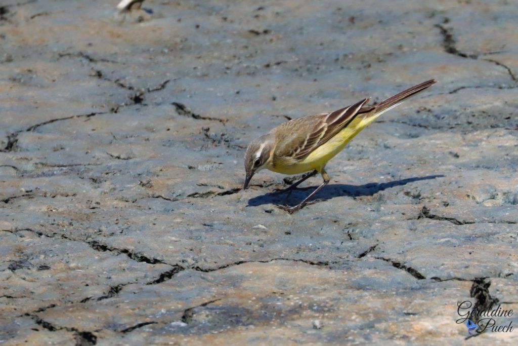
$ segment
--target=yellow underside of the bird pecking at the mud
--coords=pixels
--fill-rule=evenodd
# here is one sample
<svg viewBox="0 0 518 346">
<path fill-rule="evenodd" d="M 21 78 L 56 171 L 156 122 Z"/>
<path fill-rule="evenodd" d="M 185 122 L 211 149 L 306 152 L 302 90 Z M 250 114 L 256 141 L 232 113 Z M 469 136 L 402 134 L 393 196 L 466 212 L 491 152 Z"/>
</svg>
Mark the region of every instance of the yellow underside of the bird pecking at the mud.
<svg viewBox="0 0 518 346">
<path fill-rule="evenodd" d="M 282 174 L 299 174 L 312 170 L 321 171 L 327 161 L 332 159 L 336 154 L 340 153 L 347 143 L 351 141 L 358 132 L 362 131 L 378 115 L 370 117 L 357 117 L 349 126 L 338 132 L 332 139 L 313 150 L 308 156 L 302 160 L 294 160 L 292 158 L 276 158 L 274 162 L 267 165 L 267 169 Z"/>
</svg>

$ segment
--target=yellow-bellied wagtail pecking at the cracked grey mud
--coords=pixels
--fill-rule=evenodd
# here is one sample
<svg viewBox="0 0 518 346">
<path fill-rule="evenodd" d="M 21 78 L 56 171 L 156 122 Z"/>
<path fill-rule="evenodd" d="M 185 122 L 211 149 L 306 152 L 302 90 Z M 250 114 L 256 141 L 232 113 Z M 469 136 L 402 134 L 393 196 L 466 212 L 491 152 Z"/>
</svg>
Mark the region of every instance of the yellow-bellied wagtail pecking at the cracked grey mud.
<svg viewBox="0 0 518 346">
<path fill-rule="evenodd" d="M 282 174 L 310 172 L 281 192 L 291 192 L 309 177 L 320 173 L 323 183 L 308 197 L 295 206 L 278 207 L 293 214 L 315 203 L 310 199 L 330 181 L 325 170 L 327 162 L 380 115 L 435 83 L 435 79 L 427 80 L 376 105 L 367 106 L 370 100 L 367 98 L 331 113 L 309 115 L 280 124 L 250 142 L 244 155 L 246 175 L 243 190 L 248 188 L 252 176 L 263 169 Z"/>
</svg>

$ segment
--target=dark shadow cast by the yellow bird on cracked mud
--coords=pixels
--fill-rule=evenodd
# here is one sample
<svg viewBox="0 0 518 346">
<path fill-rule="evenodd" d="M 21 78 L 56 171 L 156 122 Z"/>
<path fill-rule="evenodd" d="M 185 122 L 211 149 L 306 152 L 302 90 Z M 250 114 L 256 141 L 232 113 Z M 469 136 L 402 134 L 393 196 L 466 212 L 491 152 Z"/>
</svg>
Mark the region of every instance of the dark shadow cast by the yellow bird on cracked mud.
<svg viewBox="0 0 518 346">
<path fill-rule="evenodd" d="M 364 185 L 347 185 L 347 184 L 326 185 L 319 193 L 317 193 L 314 196 L 313 200 L 326 201 L 328 199 L 332 199 L 334 197 L 340 197 L 340 196 L 349 196 L 349 197 L 372 196 L 379 191 L 383 191 L 383 190 L 391 188 L 391 187 L 401 186 L 401 185 L 406 185 L 406 184 L 413 183 L 413 182 L 441 178 L 441 177 L 444 177 L 444 175 L 441 175 L 441 174 L 428 175 L 428 176 L 401 179 L 401 180 L 396 180 L 396 181 L 387 182 L 387 183 L 368 183 L 368 184 L 364 184 Z M 251 198 L 248 201 L 247 206 L 258 206 L 258 205 L 270 204 L 270 203 L 272 203 L 272 204 L 298 203 L 301 200 L 303 200 L 306 196 L 308 196 L 309 193 L 311 193 L 315 188 L 316 188 L 316 186 L 295 189 L 288 199 L 286 199 L 286 196 L 289 192 L 284 192 L 284 193 L 280 193 L 279 191 L 268 192 L 268 193 L 265 193 L 264 195 Z"/>
</svg>

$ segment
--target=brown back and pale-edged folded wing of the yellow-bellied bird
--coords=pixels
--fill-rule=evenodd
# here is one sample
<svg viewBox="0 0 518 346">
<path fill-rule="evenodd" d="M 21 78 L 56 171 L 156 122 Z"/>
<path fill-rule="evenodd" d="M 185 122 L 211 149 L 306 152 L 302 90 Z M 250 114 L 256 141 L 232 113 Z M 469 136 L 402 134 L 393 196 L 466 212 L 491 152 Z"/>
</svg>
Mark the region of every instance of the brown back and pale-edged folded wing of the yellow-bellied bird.
<svg viewBox="0 0 518 346">
<path fill-rule="evenodd" d="M 328 114 L 311 115 L 281 124 L 276 129 L 275 156 L 294 161 L 304 159 L 347 127 L 368 100 L 364 99 Z"/>
</svg>

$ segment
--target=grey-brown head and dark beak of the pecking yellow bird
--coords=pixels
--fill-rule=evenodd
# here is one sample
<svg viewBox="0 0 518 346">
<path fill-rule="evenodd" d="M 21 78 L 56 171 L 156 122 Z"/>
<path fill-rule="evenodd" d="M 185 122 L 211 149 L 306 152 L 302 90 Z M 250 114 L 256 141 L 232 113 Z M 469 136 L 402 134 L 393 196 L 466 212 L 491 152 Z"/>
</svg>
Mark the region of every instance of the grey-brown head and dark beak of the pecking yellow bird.
<svg viewBox="0 0 518 346">
<path fill-rule="evenodd" d="M 247 153 L 244 154 L 244 171 L 246 177 L 244 178 L 243 189 L 248 187 L 250 179 L 255 174 L 264 168 L 270 159 L 271 149 L 274 141 L 270 134 L 265 134 L 256 140 L 253 140 L 247 148 Z"/>
</svg>

